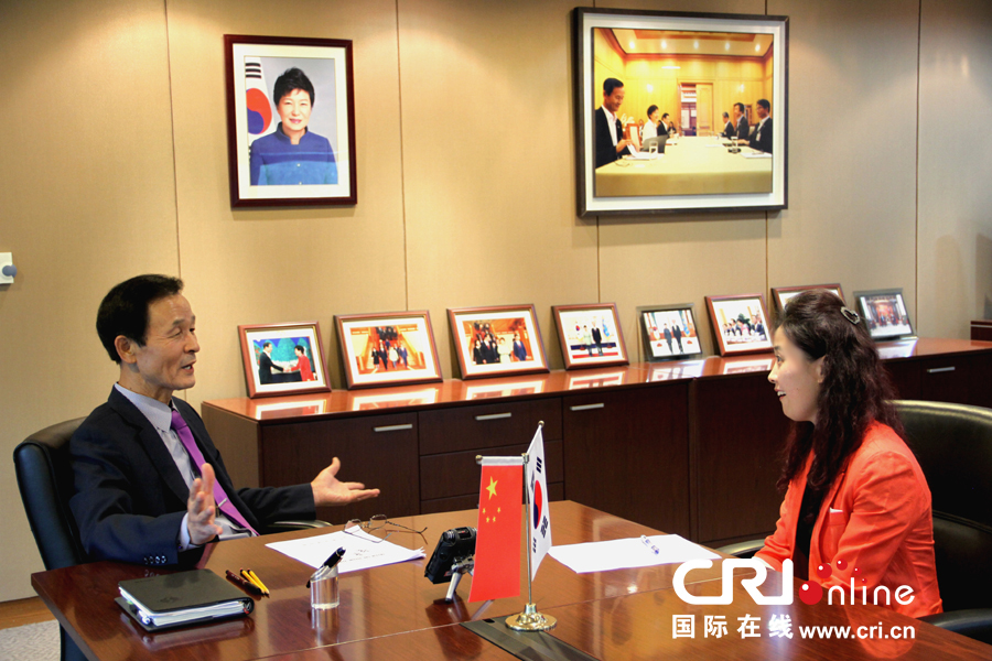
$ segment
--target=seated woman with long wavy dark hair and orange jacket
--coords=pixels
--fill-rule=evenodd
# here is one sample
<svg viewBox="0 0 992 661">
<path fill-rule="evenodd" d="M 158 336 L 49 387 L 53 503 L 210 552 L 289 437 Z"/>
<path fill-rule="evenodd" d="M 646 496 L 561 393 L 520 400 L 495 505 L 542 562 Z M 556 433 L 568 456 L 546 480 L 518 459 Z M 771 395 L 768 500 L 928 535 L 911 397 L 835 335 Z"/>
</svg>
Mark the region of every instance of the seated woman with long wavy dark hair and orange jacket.
<svg viewBox="0 0 992 661">
<path fill-rule="evenodd" d="M 858 604 L 940 613 L 930 490 L 860 321 L 816 290 L 789 301 L 775 329 L 768 380 L 792 430 L 778 523 L 756 556 L 779 571 L 791 559 L 798 577 L 843 587 L 847 603 L 853 581 Z"/>
</svg>

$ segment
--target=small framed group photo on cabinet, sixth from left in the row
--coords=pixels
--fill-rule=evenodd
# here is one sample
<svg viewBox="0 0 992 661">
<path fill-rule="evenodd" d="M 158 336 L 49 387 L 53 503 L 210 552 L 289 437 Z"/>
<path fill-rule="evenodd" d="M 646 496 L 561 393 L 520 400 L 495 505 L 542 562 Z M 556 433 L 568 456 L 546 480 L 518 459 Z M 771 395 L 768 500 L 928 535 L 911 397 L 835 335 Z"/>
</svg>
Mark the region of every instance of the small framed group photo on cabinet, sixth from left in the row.
<svg viewBox="0 0 992 661">
<path fill-rule="evenodd" d="M 707 307 L 721 356 L 772 350 L 768 312 L 762 294 L 707 296 Z"/>
</svg>

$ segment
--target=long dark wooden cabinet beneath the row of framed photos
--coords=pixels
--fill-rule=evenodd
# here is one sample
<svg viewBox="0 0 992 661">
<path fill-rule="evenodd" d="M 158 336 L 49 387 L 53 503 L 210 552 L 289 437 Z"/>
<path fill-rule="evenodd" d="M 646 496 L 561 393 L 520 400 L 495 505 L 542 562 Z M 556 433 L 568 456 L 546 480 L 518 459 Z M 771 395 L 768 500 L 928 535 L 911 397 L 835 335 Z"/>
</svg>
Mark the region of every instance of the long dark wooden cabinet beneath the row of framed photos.
<svg viewBox="0 0 992 661">
<path fill-rule="evenodd" d="M 992 408 L 992 343 L 919 339 L 884 355 L 903 399 Z M 238 398 L 204 402 L 203 418 L 239 486 L 306 483 L 337 456 L 343 479 L 382 490 L 320 512 L 333 522 L 475 508 L 475 456 L 525 452 L 543 421 L 552 500 L 719 545 L 764 535 L 778 517 L 789 423 L 768 367 L 762 355 L 553 371 L 527 378 L 531 394 L 507 388 L 485 403 L 477 381 L 457 380 Z"/>
</svg>

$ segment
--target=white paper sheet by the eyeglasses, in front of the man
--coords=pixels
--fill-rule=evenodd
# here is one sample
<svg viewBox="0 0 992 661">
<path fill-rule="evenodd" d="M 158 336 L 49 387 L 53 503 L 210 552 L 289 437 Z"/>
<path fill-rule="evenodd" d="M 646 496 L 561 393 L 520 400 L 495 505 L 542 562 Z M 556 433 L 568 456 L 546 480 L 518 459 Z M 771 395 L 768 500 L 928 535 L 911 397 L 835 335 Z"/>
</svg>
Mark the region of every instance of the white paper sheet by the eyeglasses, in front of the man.
<svg viewBox="0 0 992 661">
<path fill-rule="evenodd" d="M 375 539 L 378 538 L 362 530 L 354 534 L 337 531 L 299 540 L 272 542 L 271 544 L 266 544 L 266 546 L 289 555 L 293 560 L 308 564 L 313 568 L 321 566 L 327 560 L 327 556 L 344 546 L 344 557 L 337 563 L 337 571 L 342 574 L 407 562 L 408 560 L 417 560 L 424 556 L 423 546 L 410 550 L 393 544 L 389 540 L 378 543 L 371 541 Z"/>
</svg>

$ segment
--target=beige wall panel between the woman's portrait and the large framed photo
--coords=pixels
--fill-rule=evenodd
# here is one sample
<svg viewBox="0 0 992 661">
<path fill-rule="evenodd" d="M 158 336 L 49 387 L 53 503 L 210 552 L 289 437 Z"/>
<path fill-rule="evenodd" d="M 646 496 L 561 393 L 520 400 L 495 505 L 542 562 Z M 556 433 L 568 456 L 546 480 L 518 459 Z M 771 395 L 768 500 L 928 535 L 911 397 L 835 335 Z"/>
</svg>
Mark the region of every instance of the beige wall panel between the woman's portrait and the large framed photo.
<svg viewBox="0 0 992 661">
<path fill-rule="evenodd" d="M 400 69 L 410 306 L 429 308 L 445 377 L 448 307 L 597 297 L 595 227 L 575 218 L 573 4 L 402 0 Z"/>
</svg>

